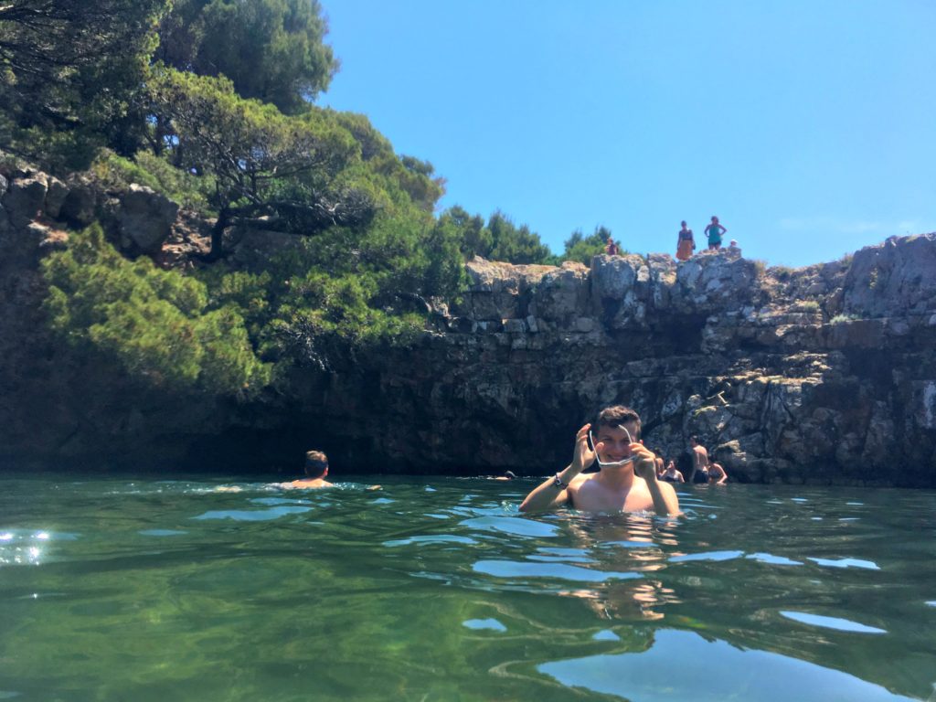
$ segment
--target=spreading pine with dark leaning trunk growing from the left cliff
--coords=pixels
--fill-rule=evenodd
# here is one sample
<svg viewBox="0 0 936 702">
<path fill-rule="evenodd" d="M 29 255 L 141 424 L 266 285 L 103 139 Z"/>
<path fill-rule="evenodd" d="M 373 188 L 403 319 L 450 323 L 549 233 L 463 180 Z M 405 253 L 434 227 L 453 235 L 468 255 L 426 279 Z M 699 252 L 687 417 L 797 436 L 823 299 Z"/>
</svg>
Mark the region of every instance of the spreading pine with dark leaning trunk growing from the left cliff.
<svg viewBox="0 0 936 702">
<path fill-rule="evenodd" d="M 288 117 L 242 99 L 230 80 L 168 68 L 154 71 L 150 91 L 159 144 L 176 166 L 213 179 L 212 255 L 236 218 L 306 235 L 373 219 L 373 184 L 348 175 L 357 143 L 324 110 Z"/>
</svg>

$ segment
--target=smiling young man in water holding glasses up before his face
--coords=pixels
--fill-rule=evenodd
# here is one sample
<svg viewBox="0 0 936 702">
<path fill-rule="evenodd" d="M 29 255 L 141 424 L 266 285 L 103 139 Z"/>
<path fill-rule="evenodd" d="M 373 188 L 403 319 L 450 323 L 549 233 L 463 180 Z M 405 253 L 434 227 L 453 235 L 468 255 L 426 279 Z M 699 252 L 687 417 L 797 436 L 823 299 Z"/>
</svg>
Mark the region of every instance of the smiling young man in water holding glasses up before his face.
<svg viewBox="0 0 936 702">
<path fill-rule="evenodd" d="M 589 511 L 654 511 L 657 515 L 680 514 L 680 499 L 668 483 L 656 479 L 656 458 L 639 443 L 640 417 L 622 405 L 606 407 L 598 414 L 594 450 L 589 446 L 586 424 L 576 434 L 572 462 L 555 477 L 526 496 L 521 512 L 570 506 Z M 595 461 L 599 473 L 579 475 Z M 628 460 L 627 462 L 622 462 Z"/>
</svg>

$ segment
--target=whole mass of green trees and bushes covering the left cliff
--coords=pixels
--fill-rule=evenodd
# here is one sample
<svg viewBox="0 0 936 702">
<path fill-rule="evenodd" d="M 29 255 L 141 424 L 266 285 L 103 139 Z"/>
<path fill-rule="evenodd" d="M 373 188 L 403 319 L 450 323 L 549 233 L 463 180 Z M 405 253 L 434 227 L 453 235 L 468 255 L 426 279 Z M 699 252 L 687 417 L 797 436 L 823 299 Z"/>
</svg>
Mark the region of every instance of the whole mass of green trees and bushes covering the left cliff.
<svg viewBox="0 0 936 702">
<path fill-rule="evenodd" d="M 183 275 L 125 260 L 100 227 L 75 235 L 43 269 L 51 325 L 70 343 L 160 386 L 243 394 L 270 381 L 260 358 L 333 366 L 409 344 L 434 300 L 461 294 L 466 256 L 551 259 L 536 233 L 502 212 L 485 222 L 453 208 L 435 219 L 445 180 L 429 161 L 395 154 L 364 115 L 308 103 L 337 66 L 314 0 L 100 6 L 124 12 L 97 35 L 110 53 L 76 51 L 65 72 L 50 69 L 67 80 L 26 85 L 0 64 L 0 96 L 22 89 L 32 100 L 23 105 L 65 116 L 60 124 L 0 108 L 0 137 L 6 129 L 7 141 L 28 142 L 43 163 L 90 163 L 105 189 L 140 183 L 216 216 L 216 256 Z M 90 25 L 81 26 L 72 35 L 61 24 L 54 41 L 80 45 Z M 231 226 L 303 239 L 238 270 L 222 250 Z"/>
</svg>

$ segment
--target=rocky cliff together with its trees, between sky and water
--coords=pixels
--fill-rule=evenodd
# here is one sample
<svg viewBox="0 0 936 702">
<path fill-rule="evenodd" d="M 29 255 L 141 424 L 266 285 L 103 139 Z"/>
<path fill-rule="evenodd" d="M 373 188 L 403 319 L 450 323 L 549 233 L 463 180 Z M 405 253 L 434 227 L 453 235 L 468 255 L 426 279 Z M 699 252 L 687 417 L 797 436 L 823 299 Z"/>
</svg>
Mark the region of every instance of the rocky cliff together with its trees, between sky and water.
<svg viewBox="0 0 936 702">
<path fill-rule="evenodd" d="M 601 256 L 604 227 L 556 256 L 503 212 L 436 214 L 429 161 L 317 107 L 327 30 L 310 0 L 0 7 L 0 459 L 311 442 L 539 475 L 629 402 L 739 479 L 936 482 L 932 235 L 800 271 Z"/>
</svg>

